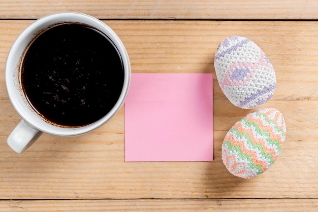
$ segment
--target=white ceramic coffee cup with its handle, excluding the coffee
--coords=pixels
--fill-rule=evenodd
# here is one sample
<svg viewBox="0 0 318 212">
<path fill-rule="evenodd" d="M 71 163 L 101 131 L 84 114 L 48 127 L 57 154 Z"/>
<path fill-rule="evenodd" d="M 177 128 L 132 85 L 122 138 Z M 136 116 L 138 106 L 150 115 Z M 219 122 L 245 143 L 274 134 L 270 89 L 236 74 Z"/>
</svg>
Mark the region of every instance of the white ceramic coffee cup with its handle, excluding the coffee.
<svg viewBox="0 0 318 212">
<path fill-rule="evenodd" d="M 26 97 L 22 91 L 22 86 L 20 83 L 21 80 L 19 79 L 21 58 L 23 58 L 25 49 L 28 47 L 30 42 L 37 36 L 39 31 L 43 31 L 49 26 L 60 22 L 83 23 L 99 29 L 114 43 L 123 63 L 123 88 L 114 107 L 100 120 L 81 127 L 63 127 L 45 121 L 38 113 L 33 110 L 32 107 L 30 107 L 30 104 L 26 100 Z M 58 136 L 75 136 L 97 129 L 109 121 L 119 111 L 122 104 L 124 103 L 130 84 L 131 66 L 123 43 L 109 26 L 97 18 L 81 13 L 69 12 L 48 15 L 29 25 L 19 35 L 12 46 L 8 54 L 5 73 L 8 96 L 14 109 L 22 118 L 20 123 L 9 135 L 8 145 L 15 152 L 21 153 L 29 148 L 43 132 Z"/>
</svg>

